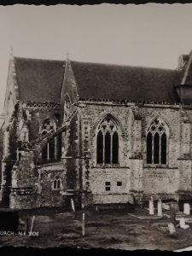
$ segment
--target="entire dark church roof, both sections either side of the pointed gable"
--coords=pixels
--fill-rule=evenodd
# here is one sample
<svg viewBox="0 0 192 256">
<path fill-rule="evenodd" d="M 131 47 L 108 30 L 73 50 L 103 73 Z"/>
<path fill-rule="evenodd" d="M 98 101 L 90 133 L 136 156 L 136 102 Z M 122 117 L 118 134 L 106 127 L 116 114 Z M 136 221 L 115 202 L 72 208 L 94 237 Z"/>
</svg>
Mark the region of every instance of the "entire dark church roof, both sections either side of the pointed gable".
<svg viewBox="0 0 192 256">
<path fill-rule="evenodd" d="M 59 102 L 65 61 L 15 57 L 19 99 Z M 80 98 L 178 102 L 174 86 L 183 72 L 162 68 L 130 67 L 71 61 Z"/>
</svg>

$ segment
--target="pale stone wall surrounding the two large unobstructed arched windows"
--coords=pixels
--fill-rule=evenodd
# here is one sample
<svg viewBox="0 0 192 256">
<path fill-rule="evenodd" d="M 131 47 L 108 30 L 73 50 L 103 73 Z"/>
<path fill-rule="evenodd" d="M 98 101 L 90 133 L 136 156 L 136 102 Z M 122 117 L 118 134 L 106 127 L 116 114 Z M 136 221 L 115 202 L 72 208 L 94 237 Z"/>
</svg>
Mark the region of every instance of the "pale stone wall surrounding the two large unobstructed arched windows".
<svg viewBox="0 0 192 256">
<path fill-rule="evenodd" d="M 150 194 L 174 194 L 179 189 L 183 177 L 191 177 L 191 167 L 178 165 L 177 159 L 182 154 L 181 148 L 187 145 L 184 152 L 189 151 L 187 139 L 182 139 L 181 109 L 178 106 L 160 107 L 150 105 L 139 107 L 141 119 L 136 119 L 131 107 L 118 106 L 117 104 L 82 104 L 79 112 L 82 119 L 82 151 L 90 151 L 90 190 L 93 195 L 102 202 L 113 202 L 111 195 L 123 195 L 131 190 L 142 191 L 144 195 Z M 112 168 L 100 168 L 96 165 L 96 127 L 111 114 L 119 124 L 119 166 Z M 166 166 L 148 166 L 146 160 L 146 131 L 148 125 L 160 117 L 168 127 L 168 150 Z M 191 129 L 191 125 L 190 125 Z M 187 132 L 190 130 L 187 125 Z M 191 137 L 191 133 L 185 137 Z M 141 144 L 139 143 L 141 137 Z M 85 140 L 84 140 L 85 138 Z M 137 156 L 135 155 L 137 153 Z M 183 164 L 184 165 L 184 164 Z M 110 166 L 109 166 L 110 167 Z M 139 169 L 138 169 L 139 168 Z M 140 170 L 140 171 L 138 171 Z M 188 174 L 186 174 L 188 173 Z M 111 183 L 111 191 L 105 191 L 105 181 Z M 124 181 L 124 186 L 117 192 L 115 183 L 117 179 Z M 191 179 L 189 179 L 191 184 Z M 186 189 L 189 190 L 189 183 Z M 123 189 L 124 188 L 124 189 Z M 126 189 L 125 189 L 126 188 Z M 110 196 L 108 196 L 110 195 Z M 95 197 L 96 198 L 96 197 Z M 108 200 L 106 199 L 108 198 Z M 110 199 L 109 199 L 110 198 Z M 120 200 L 119 196 L 119 202 Z M 96 199 L 98 201 L 98 199 Z M 124 201 L 122 199 L 122 201 Z"/>
</svg>

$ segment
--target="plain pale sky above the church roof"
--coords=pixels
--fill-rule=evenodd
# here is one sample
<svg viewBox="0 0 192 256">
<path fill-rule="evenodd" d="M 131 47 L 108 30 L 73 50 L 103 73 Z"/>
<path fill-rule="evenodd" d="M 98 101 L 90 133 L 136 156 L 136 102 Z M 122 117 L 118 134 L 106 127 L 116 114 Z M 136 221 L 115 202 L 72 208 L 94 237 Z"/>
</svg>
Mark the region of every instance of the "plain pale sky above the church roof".
<svg viewBox="0 0 192 256">
<path fill-rule="evenodd" d="M 192 3 L 0 5 L 0 112 L 9 55 L 177 68 L 192 50 Z"/>
</svg>

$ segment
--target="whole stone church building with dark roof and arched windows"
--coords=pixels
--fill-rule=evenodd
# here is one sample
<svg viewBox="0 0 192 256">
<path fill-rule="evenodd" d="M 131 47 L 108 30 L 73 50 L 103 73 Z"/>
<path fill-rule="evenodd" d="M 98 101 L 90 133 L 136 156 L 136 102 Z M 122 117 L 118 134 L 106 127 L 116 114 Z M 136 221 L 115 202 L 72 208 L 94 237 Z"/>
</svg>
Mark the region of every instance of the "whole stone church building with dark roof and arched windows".
<svg viewBox="0 0 192 256">
<path fill-rule="evenodd" d="M 2 205 L 190 200 L 191 61 L 166 70 L 11 55 Z"/>
</svg>

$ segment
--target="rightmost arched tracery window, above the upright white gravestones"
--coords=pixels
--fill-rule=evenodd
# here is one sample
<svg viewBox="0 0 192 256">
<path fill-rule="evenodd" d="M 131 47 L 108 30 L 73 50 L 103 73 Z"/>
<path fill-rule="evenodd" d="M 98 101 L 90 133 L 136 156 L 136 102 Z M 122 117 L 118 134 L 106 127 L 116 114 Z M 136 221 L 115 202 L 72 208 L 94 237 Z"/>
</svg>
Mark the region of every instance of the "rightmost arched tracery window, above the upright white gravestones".
<svg viewBox="0 0 192 256">
<path fill-rule="evenodd" d="M 160 119 L 154 119 L 147 131 L 147 164 L 166 165 L 167 132 Z"/>
</svg>

